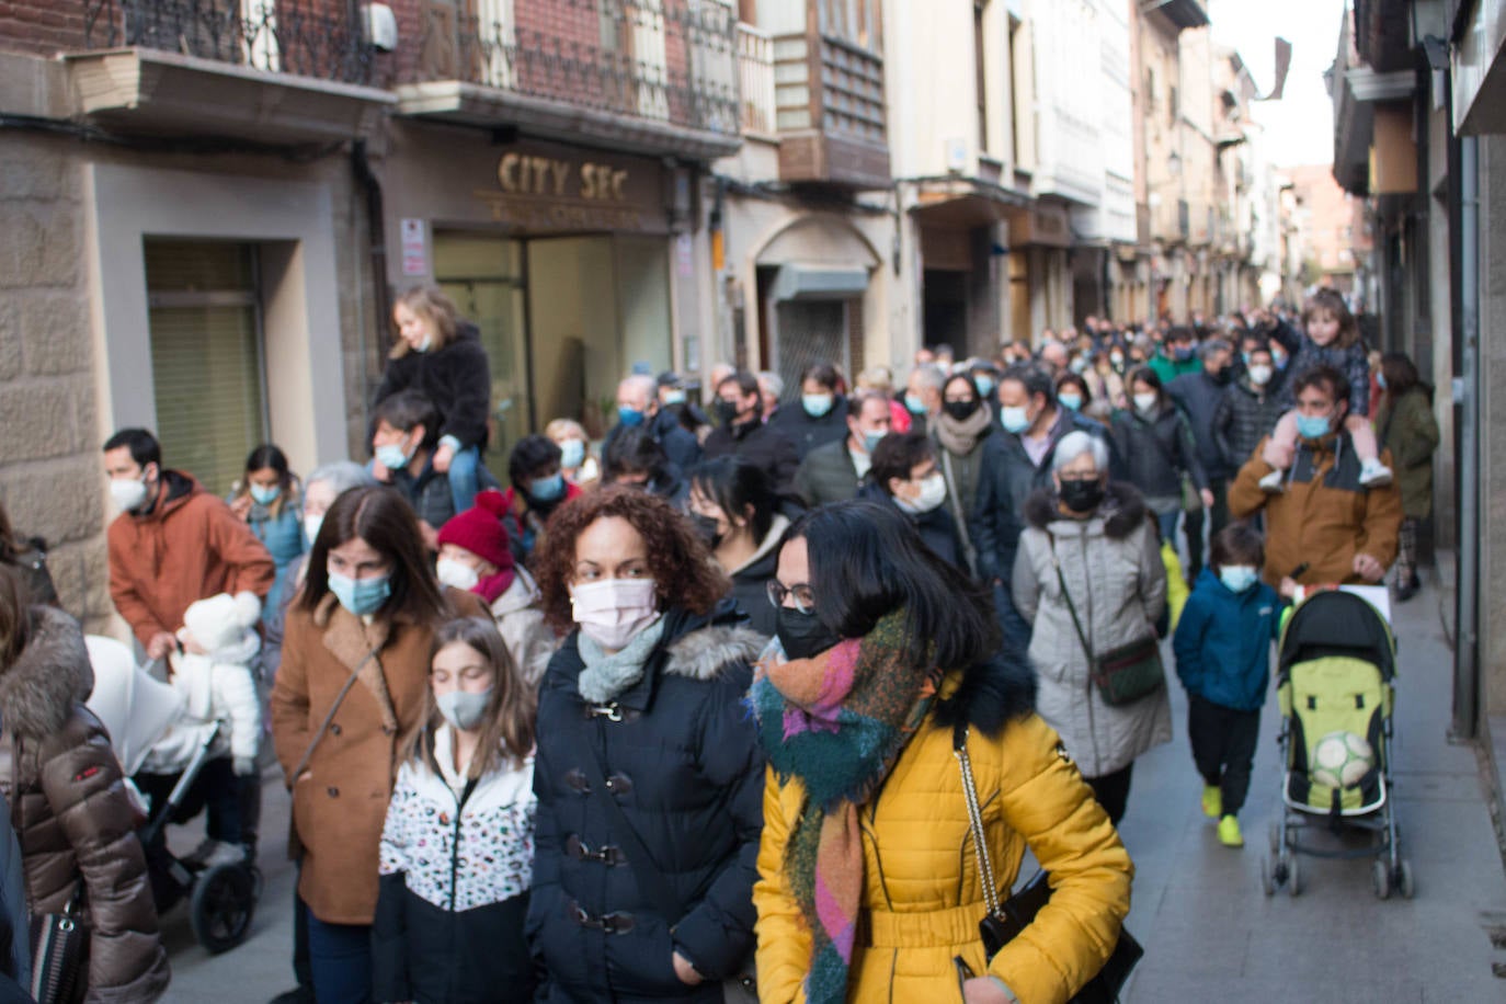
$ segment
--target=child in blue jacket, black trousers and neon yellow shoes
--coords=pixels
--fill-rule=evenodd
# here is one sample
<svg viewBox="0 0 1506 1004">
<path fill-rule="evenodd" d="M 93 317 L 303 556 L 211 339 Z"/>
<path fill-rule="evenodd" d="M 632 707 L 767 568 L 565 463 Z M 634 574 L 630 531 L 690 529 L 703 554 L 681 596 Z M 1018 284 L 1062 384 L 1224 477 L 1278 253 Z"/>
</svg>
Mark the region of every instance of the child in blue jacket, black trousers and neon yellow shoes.
<svg viewBox="0 0 1506 1004">
<path fill-rule="evenodd" d="M 1187 735 L 1203 775 L 1203 813 L 1218 820 L 1218 840 L 1242 847 L 1239 808 L 1261 704 L 1271 674 L 1271 641 L 1280 628 L 1280 598 L 1261 581 L 1265 545 L 1248 524 L 1214 534 L 1203 569 L 1172 637 L 1176 674 L 1187 688 Z"/>
</svg>

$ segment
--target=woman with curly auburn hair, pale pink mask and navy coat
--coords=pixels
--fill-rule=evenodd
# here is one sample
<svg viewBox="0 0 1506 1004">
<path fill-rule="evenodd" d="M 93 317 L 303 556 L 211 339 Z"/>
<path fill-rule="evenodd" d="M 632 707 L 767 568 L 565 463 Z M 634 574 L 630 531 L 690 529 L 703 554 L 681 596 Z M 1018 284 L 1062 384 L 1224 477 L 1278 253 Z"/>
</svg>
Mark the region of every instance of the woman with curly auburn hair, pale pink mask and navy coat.
<svg viewBox="0 0 1506 1004">
<path fill-rule="evenodd" d="M 764 759 L 742 694 L 761 637 L 688 519 L 581 495 L 538 552 L 569 632 L 539 694 L 527 932 L 550 1001 L 721 1001 L 753 950 Z"/>
</svg>

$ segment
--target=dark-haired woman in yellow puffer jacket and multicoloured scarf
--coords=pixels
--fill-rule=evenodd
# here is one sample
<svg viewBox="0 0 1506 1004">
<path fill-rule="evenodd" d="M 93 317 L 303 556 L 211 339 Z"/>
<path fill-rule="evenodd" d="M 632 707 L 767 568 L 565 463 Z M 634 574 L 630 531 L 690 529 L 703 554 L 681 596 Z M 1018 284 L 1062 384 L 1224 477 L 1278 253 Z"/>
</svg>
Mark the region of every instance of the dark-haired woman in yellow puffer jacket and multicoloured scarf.
<svg viewBox="0 0 1506 1004">
<path fill-rule="evenodd" d="M 770 599 L 779 631 L 750 692 L 770 760 L 759 999 L 1066 1001 L 1113 950 L 1134 867 L 1032 710 L 1032 671 L 997 655 L 986 596 L 854 501 L 791 527 Z M 1054 890 L 991 962 L 958 741 L 1005 894 L 1026 847 Z M 956 957 L 979 975 L 959 984 Z"/>
</svg>

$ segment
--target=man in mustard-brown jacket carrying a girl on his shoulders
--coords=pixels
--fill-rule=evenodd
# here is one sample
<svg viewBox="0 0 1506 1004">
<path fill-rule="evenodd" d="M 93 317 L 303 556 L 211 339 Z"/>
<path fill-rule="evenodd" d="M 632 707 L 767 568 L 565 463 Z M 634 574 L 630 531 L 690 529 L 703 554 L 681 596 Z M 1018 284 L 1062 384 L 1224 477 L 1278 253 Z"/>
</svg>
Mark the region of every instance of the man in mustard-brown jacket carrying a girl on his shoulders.
<svg viewBox="0 0 1506 1004">
<path fill-rule="evenodd" d="M 1265 581 L 1280 586 L 1298 566 L 1304 586 L 1375 584 L 1396 560 L 1402 522 L 1395 485 L 1360 485 L 1360 459 L 1343 431 L 1348 381 L 1337 370 L 1315 366 L 1297 375 L 1294 391 L 1301 423 L 1297 458 L 1282 491 L 1259 485 L 1274 468 L 1265 462 L 1265 440 L 1239 468 L 1229 488 L 1229 512 L 1245 519 L 1265 510 Z M 1390 465 L 1390 453 L 1381 464 Z"/>
</svg>

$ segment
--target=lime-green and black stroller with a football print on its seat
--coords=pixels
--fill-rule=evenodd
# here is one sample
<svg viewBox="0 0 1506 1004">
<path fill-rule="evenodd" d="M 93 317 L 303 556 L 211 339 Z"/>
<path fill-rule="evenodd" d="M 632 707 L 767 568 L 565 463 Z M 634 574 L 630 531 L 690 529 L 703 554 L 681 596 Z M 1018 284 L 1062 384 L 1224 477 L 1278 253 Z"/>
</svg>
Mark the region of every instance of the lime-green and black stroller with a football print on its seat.
<svg viewBox="0 0 1506 1004">
<path fill-rule="evenodd" d="M 1297 855 L 1375 858 L 1375 894 L 1411 899 L 1411 863 L 1399 856 L 1392 798 L 1392 709 L 1396 641 L 1386 617 L 1363 598 L 1324 590 L 1292 611 L 1277 652 L 1277 697 L 1285 766 L 1282 813 L 1271 825 L 1271 856 L 1261 861 L 1267 896 L 1303 891 Z M 1304 831 L 1325 825 L 1339 837 L 1318 846 Z M 1367 846 L 1343 846 L 1369 831 Z"/>
</svg>

